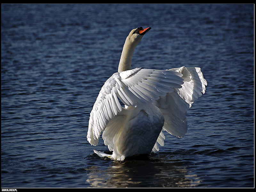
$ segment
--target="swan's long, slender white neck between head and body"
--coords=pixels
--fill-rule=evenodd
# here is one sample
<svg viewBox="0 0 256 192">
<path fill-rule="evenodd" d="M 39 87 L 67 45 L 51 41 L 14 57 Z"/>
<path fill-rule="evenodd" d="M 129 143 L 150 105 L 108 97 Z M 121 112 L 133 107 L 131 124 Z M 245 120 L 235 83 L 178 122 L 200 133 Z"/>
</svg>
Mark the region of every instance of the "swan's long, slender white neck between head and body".
<svg viewBox="0 0 256 192">
<path fill-rule="evenodd" d="M 140 42 L 140 41 L 139 41 Z M 138 42 L 138 43 L 139 43 Z M 121 58 L 118 65 L 118 72 L 131 70 L 132 66 L 132 55 L 134 50 L 138 44 L 137 42 L 130 42 L 129 38 L 127 37 L 124 43 L 124 48 L 121 54 Z"/>
</svg>

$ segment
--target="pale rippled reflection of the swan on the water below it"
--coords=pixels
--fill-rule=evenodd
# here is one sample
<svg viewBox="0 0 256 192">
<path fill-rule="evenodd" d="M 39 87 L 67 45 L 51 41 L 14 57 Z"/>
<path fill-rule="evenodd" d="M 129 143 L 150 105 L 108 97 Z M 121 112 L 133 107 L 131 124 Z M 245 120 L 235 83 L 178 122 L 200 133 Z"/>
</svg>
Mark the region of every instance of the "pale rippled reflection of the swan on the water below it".
<svg viewBox="0 0 256 192">
<path fill-rule="evenodd" d="M 170 156 L 172 155 L 164 152 L 156 156 L 140 155 L 126 158 L 124 161 L 112 161 L 93 154 L 89 158 L 92 158 L 94 163 L 103 161 L 108 167 L 103 168 L 99 164 L 87 167 L 89 176 L 86 182 L 95 188 L 198 187 L 200 178 L 190 174 L 187 170 L 188 162 L 172 159 Z"/>
</svg>

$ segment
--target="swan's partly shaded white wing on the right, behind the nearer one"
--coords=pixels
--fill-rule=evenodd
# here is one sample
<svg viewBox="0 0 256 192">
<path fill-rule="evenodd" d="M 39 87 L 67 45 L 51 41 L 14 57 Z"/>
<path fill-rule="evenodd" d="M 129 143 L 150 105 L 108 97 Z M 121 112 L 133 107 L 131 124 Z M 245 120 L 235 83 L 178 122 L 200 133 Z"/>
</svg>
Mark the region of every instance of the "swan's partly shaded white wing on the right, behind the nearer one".
<svg viewBox="0 0 256 192">
<path fill-rule="evenodd" d="M 202 93 L 205 93 L 207 82 L 200 68 L 181 67 L 168 71 L 181 73 L 184 84 L 181 85 L 181 88 L 175 88 L 173 92 L 167 93 L 166 96 L 154 101 L 154 104 L 164 115 L 163 131 L 177 137 L 184 137 L 188 130 L 187 111 L 191 104 L 201 97 Z M 164 145 L 164 137 L 161 134 L 152 150 L 153 152 L 159 150 L 158 144 Z"/>
</svg>

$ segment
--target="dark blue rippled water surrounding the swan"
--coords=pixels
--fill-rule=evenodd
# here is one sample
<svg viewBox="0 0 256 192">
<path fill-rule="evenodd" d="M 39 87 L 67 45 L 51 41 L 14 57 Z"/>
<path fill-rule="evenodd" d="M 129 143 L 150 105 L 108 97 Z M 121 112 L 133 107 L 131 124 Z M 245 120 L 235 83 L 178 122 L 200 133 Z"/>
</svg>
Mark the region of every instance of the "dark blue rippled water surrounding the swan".
<svg viewBox="0 0 256 192">
<path fill-rule="evenodd" d="M 126 36 L 133 68 L 200 67 L 184 138 L 116 162 L 86 140 Z M 253 4 L 1 4 L 2 188 L 254 187 Z"/>
</svg>

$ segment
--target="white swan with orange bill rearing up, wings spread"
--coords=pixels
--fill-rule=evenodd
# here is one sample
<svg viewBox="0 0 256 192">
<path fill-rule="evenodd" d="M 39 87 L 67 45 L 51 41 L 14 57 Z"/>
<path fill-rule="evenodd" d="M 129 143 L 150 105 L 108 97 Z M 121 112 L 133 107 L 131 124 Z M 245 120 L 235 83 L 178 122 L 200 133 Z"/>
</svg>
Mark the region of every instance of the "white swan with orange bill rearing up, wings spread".
<svg viewBox="0 0 256 192">
<path fill-rule="evenodd" d="M 96 146 L 103 132 L 104 144 L 113 151 L 93 150 L 100 157 L 123 161 L 129 156 L 156 153 L 159 145 L 164 146 L 163 131 L 184 137 L 187 110 L 205 93 L 207 82 L 198 67 L 131 68 L 133 52 L 150 29 L 132 29 L 118 72 L 104 83 L 93 105 L 87 140 Z"/>
</svg>

